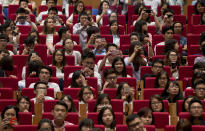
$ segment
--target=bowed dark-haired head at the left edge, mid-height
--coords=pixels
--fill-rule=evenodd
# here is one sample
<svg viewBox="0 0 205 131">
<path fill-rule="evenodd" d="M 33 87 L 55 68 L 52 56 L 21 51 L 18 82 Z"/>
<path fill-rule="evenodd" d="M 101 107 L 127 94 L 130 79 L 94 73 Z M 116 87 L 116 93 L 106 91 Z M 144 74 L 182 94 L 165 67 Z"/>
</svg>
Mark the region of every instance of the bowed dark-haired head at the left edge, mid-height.
<svg viewBox="0 0 205 131">
<path fill-rule="evenodd" d="M 11 56 L 4 56 L 0 60 L 0 69 L 4 71 L 12 71 L 13 70 L 14 61 Z"/>
</svg>

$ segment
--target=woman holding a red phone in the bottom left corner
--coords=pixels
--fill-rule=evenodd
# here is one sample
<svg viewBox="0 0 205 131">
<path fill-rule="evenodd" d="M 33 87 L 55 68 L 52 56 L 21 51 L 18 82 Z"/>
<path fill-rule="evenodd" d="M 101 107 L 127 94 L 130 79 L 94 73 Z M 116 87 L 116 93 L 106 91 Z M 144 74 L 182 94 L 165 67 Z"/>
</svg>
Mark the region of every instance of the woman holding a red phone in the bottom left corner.
<svg viewBox="0 0 205 131">
<path fill-rule="evenodd" d="M 19 125 L 19 109 L 16 106 L 8 105 L 1 113 L 0 131 L 13 129 L 13 125 Z"/>
</svg>

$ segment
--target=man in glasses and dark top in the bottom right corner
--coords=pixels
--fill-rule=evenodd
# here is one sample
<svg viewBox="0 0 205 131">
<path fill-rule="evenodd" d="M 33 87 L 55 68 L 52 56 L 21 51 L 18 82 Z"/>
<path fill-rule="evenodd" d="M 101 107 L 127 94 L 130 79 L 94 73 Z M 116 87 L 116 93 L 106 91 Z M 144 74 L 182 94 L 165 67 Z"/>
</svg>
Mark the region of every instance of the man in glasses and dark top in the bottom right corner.
<svg viewBox="0 0 205 131">
<path fill-rule="evenodd" d="M 203 104 L 198 99 L 192 99 L 189 103 L 190 122 L 192 125 L 205 125 L 202 117 Z"/>
</svg>

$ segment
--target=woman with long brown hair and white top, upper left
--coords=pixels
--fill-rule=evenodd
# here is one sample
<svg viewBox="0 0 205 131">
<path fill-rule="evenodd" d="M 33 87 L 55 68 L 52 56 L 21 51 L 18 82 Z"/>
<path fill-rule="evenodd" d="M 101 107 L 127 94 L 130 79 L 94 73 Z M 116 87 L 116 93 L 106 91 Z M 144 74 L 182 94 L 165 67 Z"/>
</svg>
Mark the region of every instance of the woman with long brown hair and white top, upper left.
<svg viewBox="0 0 205 131">
<path fill-rule="evenodd" d="M 44 22 L 43 31 L 40 35 L 46 35 L 46 46 L 48 48 L 48 53 L 53 54 L 54 46 L 53 46 L 53 35 L 57 35 L 54 28 L 54 20 L 53 18 L 47 18 Z"/>
</svg>

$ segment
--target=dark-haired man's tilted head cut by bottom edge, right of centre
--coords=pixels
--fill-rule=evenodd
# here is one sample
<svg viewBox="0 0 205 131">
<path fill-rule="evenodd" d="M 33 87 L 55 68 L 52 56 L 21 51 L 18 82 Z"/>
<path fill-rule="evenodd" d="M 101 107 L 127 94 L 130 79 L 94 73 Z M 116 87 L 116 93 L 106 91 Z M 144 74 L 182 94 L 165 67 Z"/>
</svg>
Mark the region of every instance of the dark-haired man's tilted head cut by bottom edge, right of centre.
<svg viewBox="0 0 205 131">
<path fill-rule="evenodd" d="M 129 131 L 146 131 L 141 118 L 137 114 L 127 116 L 126 123 Z"/>
</svg>

